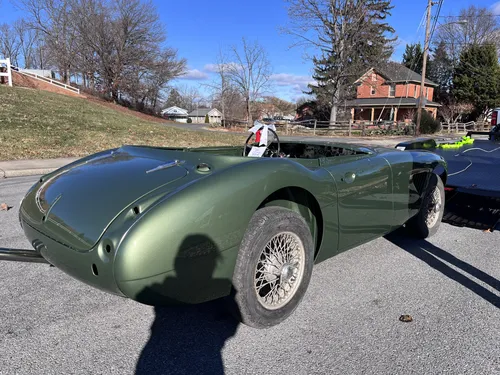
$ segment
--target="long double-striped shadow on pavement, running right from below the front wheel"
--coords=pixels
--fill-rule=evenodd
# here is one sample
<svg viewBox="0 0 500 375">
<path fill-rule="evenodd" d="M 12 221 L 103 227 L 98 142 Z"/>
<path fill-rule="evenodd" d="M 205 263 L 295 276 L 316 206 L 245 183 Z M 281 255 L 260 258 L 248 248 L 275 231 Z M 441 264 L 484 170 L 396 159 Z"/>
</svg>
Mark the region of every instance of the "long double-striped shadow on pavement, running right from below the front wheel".
<svg viewBox="0 0 500 375">
<path fill-rule="evenodd" d="M 443 275 L 460 283 L 462 286 L 471 290 L 484 300 L 491 303 L 493 306 L 500 308 L 500 297 L 497 294 L 478 284 L 463 273 L 456 271 L 445 262 L 452 264 L 464 273 L 469 274 L 470 276 L 482 281 L 496 291 L 500 292 L 500 281 L 498 279 L 488 275 L 471 264 L 458 259 L 454 255 L 437 246 L 434 246 L 426 240 L 415 240 L 413 238 L 405 237 L 402 233 L 402 229 L 386 235 L 385 238 L 414 257 L 427 263 L 436 271 L 439 271 Z"/>
</svg>

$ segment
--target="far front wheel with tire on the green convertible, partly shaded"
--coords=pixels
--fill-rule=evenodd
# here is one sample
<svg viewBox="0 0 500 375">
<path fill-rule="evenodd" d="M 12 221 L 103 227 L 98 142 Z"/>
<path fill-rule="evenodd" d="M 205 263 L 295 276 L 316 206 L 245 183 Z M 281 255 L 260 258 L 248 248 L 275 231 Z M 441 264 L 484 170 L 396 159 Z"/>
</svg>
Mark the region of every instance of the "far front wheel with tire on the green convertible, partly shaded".
<svg viewBox="0 0 500 375">
<path fill-rule="evenodd" d="M 433 195 L 435 193 L 439 194 L 438 208 L 435 207 L 436 202 L 434 200 L 435 198 L 433 198 Z M 422 198 L 422 206 L 420 207 L 419 213 L 408 220 L 408 222 L 406 223 L 406 228 L 408 229 L 409 233 L 412 236 L 422 239 L 429 238 L 435 235 L 441 225 L 444 208 L 445 193 L 443 181 L 438 175 L 432 173 L 429 176 L 429 183 Z M 432 210 L 434 210 L 434 212 L 432 212 Z M 430 218 L 431 215 L 434 215 L 436 213 L 437 217 L 434 217 L 433 223 L 429 225 L 427 219 Z"/>
</svg>

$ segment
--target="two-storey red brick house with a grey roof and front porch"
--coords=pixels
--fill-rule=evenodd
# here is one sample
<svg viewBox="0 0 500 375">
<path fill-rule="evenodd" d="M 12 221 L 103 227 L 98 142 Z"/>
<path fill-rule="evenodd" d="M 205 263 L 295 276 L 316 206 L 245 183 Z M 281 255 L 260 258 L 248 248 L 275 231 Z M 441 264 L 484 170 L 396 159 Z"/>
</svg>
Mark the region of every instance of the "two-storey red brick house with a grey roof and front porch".
<svg viewBox="0 0 500 375">
<path fill-rule="evenodd" d="M 381 68 L 371 68 L 356 82 L 356 99 L 347 100 L 351 120 L 409 121 L 417 111 L 422 76 L 402 64 L 389 62 Z M 423 109 L 434 118 L 440 104 L 432 101 L 436 83 L 424 82 Z"/>
</svg>

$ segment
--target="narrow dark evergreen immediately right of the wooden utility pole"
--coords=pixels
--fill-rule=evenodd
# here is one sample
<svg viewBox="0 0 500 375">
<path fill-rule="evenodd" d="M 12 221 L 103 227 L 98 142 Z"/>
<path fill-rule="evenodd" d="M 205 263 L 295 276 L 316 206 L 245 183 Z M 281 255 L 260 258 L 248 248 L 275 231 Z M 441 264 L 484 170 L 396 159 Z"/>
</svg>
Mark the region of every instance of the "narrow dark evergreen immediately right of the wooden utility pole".
<svg viewBox="0 0 500 375">
<path fill-rule="evenodd" d="M 434 90 L 434 101 L 448 104 L 451 99 L 453 82 L 453 63 L 446 52 L 446 45 L 441 41 L 432 54 L 432 64 L 429 66 L 428 78 L 439 86 Z"/>
</svg>

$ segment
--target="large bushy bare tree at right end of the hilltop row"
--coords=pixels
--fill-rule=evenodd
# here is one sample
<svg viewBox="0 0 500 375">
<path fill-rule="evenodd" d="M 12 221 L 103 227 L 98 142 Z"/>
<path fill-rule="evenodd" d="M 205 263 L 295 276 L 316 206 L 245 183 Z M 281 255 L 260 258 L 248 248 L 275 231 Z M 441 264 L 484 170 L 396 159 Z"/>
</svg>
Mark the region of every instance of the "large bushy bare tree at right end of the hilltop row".
<svg viewBox="0 0 500 375">
<path fill-rule="evenodd" d="M 78 7 L 74 24 L 82 45 L 81 70 L 90 79 L 95 71 L 115 101 L 126 93 L 140 106 L 156 107 L 166 84 L 184 73 L 186 61 L 162 47 L 165 31 L 153 4 L 80 0 Z"/>
</svg>

